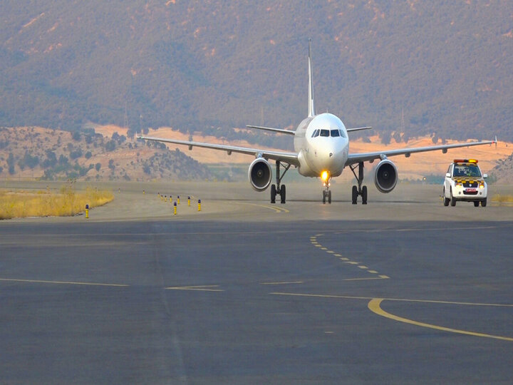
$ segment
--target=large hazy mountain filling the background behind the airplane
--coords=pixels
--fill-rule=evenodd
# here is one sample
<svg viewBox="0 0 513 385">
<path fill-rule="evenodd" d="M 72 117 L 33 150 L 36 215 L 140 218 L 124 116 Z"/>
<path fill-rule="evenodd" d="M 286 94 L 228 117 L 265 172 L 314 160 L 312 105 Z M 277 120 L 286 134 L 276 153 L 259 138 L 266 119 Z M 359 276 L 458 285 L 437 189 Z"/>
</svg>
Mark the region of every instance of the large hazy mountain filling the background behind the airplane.
<svg viewBox="0 0 513 385">
<path fill-rule="evenodd" d="M 506 0 L 4 0 L 0 125 L 295 127 L 311 38 L 318 112 L 385 139 L 512 141 L 512 15 Z"/>
</svg>

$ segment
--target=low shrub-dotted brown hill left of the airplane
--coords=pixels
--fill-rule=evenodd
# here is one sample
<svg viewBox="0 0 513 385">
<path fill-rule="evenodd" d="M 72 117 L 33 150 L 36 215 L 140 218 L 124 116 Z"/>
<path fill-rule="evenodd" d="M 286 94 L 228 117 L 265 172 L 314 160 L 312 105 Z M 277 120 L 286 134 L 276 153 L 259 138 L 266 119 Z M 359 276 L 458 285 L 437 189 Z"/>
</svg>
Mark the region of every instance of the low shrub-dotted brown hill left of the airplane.
<svg viewBox="0 0 513 385">
<path fill-rule="evenodd" d="M 162 143 L 113 133 L 73 133 L 38 127 L 0 128 L 0 176 L 108 180 L 210 179 L 204 165 Z"/>
</svg>

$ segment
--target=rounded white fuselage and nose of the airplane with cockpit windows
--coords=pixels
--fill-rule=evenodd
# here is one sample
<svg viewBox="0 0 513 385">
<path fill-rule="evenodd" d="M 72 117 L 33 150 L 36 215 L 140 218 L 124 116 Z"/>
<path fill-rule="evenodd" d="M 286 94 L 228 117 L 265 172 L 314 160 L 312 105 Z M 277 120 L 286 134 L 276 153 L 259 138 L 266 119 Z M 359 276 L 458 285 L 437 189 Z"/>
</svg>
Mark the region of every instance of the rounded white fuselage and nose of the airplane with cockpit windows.
<svg viewBox="0 0 513 385">
<path fill-rule="evenodd" d="M 349 153 L 346 126 L 337 116 L 321 113 L 299 123 L 294 135 L 294 150 L 299 154 L 299 173 L 319 177 L 341 175 Z"/>
</svg>

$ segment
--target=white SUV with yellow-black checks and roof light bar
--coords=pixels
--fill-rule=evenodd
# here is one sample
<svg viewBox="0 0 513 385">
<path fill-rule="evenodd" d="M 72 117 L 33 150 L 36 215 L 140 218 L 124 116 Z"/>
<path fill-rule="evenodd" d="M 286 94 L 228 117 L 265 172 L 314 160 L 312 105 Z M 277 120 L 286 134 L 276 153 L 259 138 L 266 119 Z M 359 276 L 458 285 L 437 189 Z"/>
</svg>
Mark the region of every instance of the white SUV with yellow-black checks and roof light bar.
<svg viewBox="0 0 513 385">
<path fill-rule="evenodd" d="M 486 206 L 488 188 L 484 178 L 488 175 L 481 173 L 477 160 L 455 159 L 445 174 L 444 206 L 455 206 L 458 200 L 474 202 L 475 207 L 480 202 L 482 207 Z"/>
</svg>

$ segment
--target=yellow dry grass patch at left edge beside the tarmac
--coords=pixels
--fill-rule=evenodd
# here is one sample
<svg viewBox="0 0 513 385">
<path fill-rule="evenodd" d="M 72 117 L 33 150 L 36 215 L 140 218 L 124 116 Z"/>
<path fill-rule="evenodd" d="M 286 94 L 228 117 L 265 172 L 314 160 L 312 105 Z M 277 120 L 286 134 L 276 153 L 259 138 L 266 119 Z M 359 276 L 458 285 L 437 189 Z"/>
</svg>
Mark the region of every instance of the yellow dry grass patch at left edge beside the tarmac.
<svg viewBox="0 0 513 385">
<path fill-rule="evenodd" d="M 110 191 L 86 188 L 76 193 L 67 185 L 59 193 L 38 191 L 1 191 L 0 220 L 20 217 L 63 217 L 76 215 L 90 208 L 105 205 L 114 199 Z"/>
</svg>

